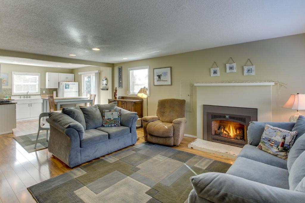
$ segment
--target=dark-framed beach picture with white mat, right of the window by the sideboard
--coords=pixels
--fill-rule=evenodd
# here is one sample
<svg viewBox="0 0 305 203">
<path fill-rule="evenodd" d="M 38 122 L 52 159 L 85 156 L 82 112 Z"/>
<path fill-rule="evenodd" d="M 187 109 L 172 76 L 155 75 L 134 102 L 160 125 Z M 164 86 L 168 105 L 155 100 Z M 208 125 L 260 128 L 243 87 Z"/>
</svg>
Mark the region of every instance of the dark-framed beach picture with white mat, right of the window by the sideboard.
<svg viewBox="0 0 305 203">
<path fill-rule="evenodd" d="M 153 85 L 171 85 L 171 67 L 154 68 Z"/>
</svg>

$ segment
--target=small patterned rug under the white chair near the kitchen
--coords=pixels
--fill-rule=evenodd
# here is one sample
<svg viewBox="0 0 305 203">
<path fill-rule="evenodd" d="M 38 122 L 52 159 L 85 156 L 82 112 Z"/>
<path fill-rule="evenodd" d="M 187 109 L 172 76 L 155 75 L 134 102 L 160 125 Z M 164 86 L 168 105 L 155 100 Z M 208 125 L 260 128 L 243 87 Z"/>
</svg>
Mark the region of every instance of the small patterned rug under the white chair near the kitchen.
<svg viewBox="0 0 305 203">
<path fill-rule="evenodd" d="M 48 148 L 46 131 L 40 131 L 37 141 L 37 146 L 35 149 L 34 146 L 36 142 L 36 137 L 37 137 L 37 133 L 33 133 L 33 134 L 21 135 L 13 138 L 23 147 L 23 149 L 27 150 L 28 153 L 36 152 L 38 150 Z"/>
</svg>

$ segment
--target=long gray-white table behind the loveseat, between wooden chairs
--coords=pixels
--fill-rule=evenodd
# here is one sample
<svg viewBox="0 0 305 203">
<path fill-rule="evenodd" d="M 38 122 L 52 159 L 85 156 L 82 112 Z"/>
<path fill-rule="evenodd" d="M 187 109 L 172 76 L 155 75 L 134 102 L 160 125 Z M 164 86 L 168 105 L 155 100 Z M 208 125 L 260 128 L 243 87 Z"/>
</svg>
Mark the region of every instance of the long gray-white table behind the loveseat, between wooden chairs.
<svg viewBox="0 0 305 203">
<path fill-rule="evenodd" d="M 48 97 L 41 96 L 41 99 L 42 99 L 42 112 L 50 112 Z M 88 97 L 84 97 L 84 96 L 54 97 L 54 102 L 55 105 L 57 106 L 57 110 L 60 109 L 61 105 L 65 105 L 66 107 L 73 107 L 73 106 L 75 107 L 75 104 L 78 103 L 91 103 L 91 106 L 93 106 L 93 99 L 88 99 Z"/>
</svg>

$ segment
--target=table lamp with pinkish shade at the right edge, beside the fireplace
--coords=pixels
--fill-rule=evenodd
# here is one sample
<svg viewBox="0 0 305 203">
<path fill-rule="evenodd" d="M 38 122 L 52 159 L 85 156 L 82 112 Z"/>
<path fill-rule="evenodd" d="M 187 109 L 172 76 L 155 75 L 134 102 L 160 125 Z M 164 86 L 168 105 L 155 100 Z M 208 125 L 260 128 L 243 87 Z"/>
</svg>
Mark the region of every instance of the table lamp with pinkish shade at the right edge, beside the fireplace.
<svg viewBox="0 0 305 203">
<path fill-rule="evenodd" d="M 296 109 L 296 113 L 292 114 L 289 118 L 290 122 L 296 122 L 298 117 L 301 115 L 299 110 L 305 110 L 305 94 L 291 94 L 283 108 Z"/>
</svg>

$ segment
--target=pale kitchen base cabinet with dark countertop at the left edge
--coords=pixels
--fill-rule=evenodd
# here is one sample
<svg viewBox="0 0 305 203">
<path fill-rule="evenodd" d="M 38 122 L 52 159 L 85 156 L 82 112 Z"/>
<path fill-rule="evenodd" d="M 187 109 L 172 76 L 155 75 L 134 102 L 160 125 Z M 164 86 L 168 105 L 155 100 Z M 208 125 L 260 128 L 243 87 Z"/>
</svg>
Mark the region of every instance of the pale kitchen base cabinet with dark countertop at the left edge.
<svg viewBox="0 0 305 203">
<path fill-rule="evenodd" d="M 0 103 L 0 135 L 12 133 L 16 128 L 16 102 Z"/>
</svg>

